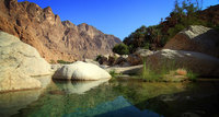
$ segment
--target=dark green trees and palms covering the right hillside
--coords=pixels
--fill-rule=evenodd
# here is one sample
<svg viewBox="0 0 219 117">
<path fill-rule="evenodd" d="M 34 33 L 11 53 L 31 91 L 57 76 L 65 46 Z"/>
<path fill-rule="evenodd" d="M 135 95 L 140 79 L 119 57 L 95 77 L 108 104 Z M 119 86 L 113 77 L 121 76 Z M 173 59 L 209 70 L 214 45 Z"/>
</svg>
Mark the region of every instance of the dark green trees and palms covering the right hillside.
<svg viewBox="0 0 219 117">
<path fill-rule="evenodd" d="M 201 11 L 201 4 L 203 0 L 175 0 L 173 11 L 165 20 L 161 19 L 160 24 L 148 27 L 142 25 L 125 37 L 124 44 L 128 46 L 126 48 L 129 52 L 134 52 L 139 47 L 151 50 L 160 49 L 170 38 L 189 25 L 219 28 L 219 13 L 217 14 L 219 10 L 210 7 Z"/>
</svg>

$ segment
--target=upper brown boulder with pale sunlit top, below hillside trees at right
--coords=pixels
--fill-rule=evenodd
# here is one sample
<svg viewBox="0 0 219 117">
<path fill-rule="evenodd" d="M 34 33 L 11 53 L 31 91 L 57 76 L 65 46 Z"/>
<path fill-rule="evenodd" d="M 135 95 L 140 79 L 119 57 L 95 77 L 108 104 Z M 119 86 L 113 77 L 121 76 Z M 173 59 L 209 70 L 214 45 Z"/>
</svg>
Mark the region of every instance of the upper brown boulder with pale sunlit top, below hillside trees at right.
<svg viewBox="0 0 219 117">
<path fill-rule="evenodd" d="M 192 25 L 176 34 L 164 48 L 204 52 L 219 58 L 219 32 L 201 25 Z"/>
</svg>

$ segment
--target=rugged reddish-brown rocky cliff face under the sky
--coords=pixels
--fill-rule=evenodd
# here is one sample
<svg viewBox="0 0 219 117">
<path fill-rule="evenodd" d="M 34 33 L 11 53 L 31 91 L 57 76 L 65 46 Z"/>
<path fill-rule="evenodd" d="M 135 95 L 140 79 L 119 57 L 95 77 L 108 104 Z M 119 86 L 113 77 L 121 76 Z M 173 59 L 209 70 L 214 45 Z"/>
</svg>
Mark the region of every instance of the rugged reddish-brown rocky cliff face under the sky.
<svg viewBox="0 0 219 117">
<path fill-rule="evenodd" d="M 0 1 L 0 31 L 35 47 L 48 62 L 82 60 L 112 52 L 120 40 L 85 23 L 60 21 L 51 8 L 18 0 Z"/>
</svg>

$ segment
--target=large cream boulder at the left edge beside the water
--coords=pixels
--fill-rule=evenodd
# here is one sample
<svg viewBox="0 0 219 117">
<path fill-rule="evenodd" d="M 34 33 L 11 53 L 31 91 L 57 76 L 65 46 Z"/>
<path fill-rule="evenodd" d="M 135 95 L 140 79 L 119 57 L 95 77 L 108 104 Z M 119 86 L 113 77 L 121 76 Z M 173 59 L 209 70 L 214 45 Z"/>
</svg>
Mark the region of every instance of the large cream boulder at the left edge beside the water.
<svg viewBox="0 0 219 117">
<path fill-rule="evenodd" d="M 51 74 L 47 63 L 32 46 L 0 32 L 0 92 L 42 87 L 32 77 Z"/>
</svg>

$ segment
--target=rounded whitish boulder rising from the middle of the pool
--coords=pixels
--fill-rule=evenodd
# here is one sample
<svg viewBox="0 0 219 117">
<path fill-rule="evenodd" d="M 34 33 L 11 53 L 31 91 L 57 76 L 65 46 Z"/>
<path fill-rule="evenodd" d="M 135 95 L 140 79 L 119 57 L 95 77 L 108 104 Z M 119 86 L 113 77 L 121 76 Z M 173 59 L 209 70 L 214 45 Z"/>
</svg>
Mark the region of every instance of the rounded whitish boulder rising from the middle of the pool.
<svg viewBox="0 0 219 117">
<path fill-rule="evenodd" d="M 53 78 L 60 80 L 100 80 L 110 79 L 111 74 L 96 65 L 77 61 L 71 65 L 64 65 L 55 72 Z"/>
</svg>

